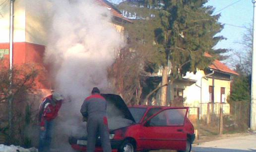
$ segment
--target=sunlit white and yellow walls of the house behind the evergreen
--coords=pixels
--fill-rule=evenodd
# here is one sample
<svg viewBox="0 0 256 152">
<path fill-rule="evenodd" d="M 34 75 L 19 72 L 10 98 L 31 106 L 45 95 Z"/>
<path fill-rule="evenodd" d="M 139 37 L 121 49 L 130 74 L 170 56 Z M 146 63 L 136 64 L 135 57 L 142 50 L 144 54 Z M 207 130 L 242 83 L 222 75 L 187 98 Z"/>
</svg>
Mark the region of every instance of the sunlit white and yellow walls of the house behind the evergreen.
<svg viewBox="0 0 256 152">
<path fill-rule="evenodd" d="M 188 72 L 184 78 L 196 82 L 189 81 L 175 81 L 167 88 L 167 101 L 174 100 L 174 89 L 184 89 L 183 97 L 185 104 L 190 106 L 198 106 L 199 103 L 210 102 L 209 86 L 212 86 L 212 78 L 205 78 L 204 71 L 198 70 L 195 74 Z M 202 79 L 201 79 L 202 78 Z M 202 82 L 202 84 L 201 84 Z M 225 102 L 230 95 L 230 81 L 214 79 L 214 102 L 220 102 L 221 87 L 225 88 Z M 202 88 L 202 89 L 201 89 Z M 157 93 L 156 100 L 160 101 L 161 89 Z"/>
</svg>

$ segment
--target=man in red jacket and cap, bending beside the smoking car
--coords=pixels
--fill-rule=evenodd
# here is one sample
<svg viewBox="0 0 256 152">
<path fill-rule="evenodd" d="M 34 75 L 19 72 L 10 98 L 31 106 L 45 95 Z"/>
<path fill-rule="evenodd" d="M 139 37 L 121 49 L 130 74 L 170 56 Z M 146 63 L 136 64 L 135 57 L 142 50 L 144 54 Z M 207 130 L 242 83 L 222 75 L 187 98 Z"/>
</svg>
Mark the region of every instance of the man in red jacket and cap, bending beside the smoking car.
<svg viewBox="0 0 256 152">
<path fill-rule="evenodd" d="M 62 106 L 63 97 L 54 92 L 53 95 L 46 97 L 40 104 L 39 122 L 39 152 L 50 152 L 50 145 L 53 134 L 53 120 L 57 117 Z"/>
</svg>

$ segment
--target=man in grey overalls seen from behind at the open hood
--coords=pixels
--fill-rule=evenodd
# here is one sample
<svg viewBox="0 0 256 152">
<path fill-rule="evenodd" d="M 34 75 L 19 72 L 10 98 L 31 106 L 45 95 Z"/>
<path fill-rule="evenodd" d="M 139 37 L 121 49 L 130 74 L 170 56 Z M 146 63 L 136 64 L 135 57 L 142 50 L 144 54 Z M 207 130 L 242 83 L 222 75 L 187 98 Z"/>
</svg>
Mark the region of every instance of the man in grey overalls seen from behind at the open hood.
<svg viewBox="0 0 256 152">
<path fill-rule="evenodd" d="M 87 120 L 87 152 L 95 151 L 97 135 L 100 135 L 103 152 L 111 152 L 109 140 L 107 101 L 100 95 L 100 90 L 94 87 L 91 96 L 87 97 L 81 107 L 80 112 Z"/>
</svg>

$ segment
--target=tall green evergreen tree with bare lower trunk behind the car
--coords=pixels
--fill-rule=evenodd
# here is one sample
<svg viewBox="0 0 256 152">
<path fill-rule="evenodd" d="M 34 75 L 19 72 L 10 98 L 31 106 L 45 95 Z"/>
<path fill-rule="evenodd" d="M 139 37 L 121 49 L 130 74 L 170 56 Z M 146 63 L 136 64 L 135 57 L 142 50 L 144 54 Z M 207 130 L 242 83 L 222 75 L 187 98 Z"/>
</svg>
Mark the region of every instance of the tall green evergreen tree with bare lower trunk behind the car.
<svg viewBox="0 0 256 152">
<path fill-rule="evenodd" d="M 142 73 L 156 72 L 159 65 L 163 66 L 162 86 L 154 83 L 155 88 L 148 89 L 149 84 L 141 77 L 141 72 L 138 72 L 138 88 L 144 86 L 147 88 L 146 93 L 152 95 L 150 91 L 157 91 L 161 87 L 164 89 L 169 84 L 168 77 L 173 82 L 182 78 L 182 74 L 187 71 L 195 72 L 197 68 L 208 67 L 213 58 L 204 57 L 204 52 L 219 59 L 221 56 L 218 53 L 227 51 L 212 49 L 224 39 L 222 36 L 215 37 L 223 29 L 223 25 L 218 22 L 220 14 L 212 15 L 214 8 L 205 6 L 206 2 L 207 0 L 128 0 L 119 4 L 119 9 L 125 15 L 138 19 L 125 25 L 125 30 L 128 48 L 133 50 L 133 55 L 130 56 L 134 57 L 136 54 L 143 60 L 137 62 L 139 70 L 143 69 Z M 171 63 L 171 75 L 167 75 L 168 59 Z M 132 78 L 130 75 L 127 77 Z M 166 90 L 162 90 L 162 93 L 166 93 Z"/>
</svg>

